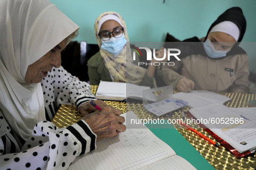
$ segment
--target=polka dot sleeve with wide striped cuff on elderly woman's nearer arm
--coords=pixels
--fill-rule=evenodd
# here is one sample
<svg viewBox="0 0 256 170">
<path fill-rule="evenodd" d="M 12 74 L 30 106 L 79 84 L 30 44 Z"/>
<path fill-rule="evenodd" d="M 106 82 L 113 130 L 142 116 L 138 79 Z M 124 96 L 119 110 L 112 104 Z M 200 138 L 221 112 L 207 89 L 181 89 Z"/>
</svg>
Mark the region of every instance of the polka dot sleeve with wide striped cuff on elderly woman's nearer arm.
<svg viewBox="0 0 256 170">
<path fill-rule="evenodd" d="M 51 122 L 43 121 L 36 124 L 19 152 L 5 154 L 13 142 L 4 143 L 2 136 L 0 169 L 59 170 L 67 169 L 78 155 L 94 150 L 96 135 L 84 120 L 65 129 L 58 129 Z"/>
</svg>

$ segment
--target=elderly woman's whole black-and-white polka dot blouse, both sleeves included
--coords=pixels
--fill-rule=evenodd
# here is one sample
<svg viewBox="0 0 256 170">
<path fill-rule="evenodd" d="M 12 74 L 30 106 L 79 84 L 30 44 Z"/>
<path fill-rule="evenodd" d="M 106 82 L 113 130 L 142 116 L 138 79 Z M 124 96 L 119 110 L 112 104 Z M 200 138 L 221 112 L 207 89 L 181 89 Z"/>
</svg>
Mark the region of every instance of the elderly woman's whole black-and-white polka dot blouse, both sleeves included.
<svg viewBox="0 0 256 170">
<path fill-rule="evenodd" d="M 81 104 L 96 100 L 90 85 L 71 76 L 62 67 L 53 68 L 41 82 L 45 115 L 51 120 L 61 104 Z M 25 142 L 8 125 L 0 111 L 0 169 L 67 169 L 75 157 L 96 148 L 96 135 L 84 120 L 58 129 L 49 121 L 36 124 Z"/>
</svg>

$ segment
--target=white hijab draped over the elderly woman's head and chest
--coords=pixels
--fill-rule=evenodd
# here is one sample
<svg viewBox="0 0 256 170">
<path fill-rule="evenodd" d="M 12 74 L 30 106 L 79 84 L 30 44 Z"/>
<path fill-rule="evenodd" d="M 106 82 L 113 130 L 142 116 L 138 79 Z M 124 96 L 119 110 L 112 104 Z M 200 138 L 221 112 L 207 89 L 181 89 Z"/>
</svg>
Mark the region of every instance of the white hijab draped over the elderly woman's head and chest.
<svg viewBox="0 0 256 170">
<path fill-rule="evenodd" d="M 48 0 L 0 1 L 0 109 L 24 140 L 45 120 L 41 84 L 26 84 L 27 68 L 78 28 Z"/>
</svg>

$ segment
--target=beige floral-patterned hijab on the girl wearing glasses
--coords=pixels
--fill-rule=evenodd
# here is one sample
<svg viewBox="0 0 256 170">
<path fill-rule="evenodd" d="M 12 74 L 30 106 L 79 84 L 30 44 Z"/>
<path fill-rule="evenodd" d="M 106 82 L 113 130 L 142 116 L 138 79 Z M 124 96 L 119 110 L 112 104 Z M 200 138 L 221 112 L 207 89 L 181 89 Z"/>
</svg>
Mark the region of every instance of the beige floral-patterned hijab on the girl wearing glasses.
<svg viewBox="0 0 256 170">
<path fill-rule="evenodd" d="M 100 30 L 99 26 L 101 26 L 99 25 L 99 23 L 101 23 L 100 19 L 107 15 L 117 16 L 116 21 L 123 26 L 125 39 L 129 42 L 126 24 L 122 16 L 116 12 L 104 12 L 98 16 L 94 23 L 95 37 L 98 46 L 101 47 L 101 40 L 98 36 L 98 31 Z M 113 19 L 113 17 L 110 18 Z M 100 48 L 100 55 L 103 57 L 104 64 L 110 72 L 114 82 L 130 82 L 139 85 L 146 74 L 146 69 L 133 64 L 130 46 L 128 47 L 125 45 L 123 50 L 117 56 L 113 56 L 113 54 L 110 54 L 107 50 Z"/>
</svg>

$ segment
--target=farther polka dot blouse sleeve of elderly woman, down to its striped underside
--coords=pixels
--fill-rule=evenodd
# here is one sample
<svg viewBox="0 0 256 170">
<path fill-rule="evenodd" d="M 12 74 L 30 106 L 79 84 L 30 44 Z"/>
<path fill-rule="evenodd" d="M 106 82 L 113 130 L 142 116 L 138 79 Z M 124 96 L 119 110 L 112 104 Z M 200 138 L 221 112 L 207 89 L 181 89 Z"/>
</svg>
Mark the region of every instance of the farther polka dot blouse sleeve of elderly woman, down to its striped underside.
<svg viewBox="0 0 256 170">
<path fill-rule="evenodd" d="M 61 104 L 79 107 L 87 101 L 97 100 L 87 82 L 79 81 L 62 66 L 48 72 L 41 85 L 45 100 L 45 116 L 48 121 L 52 120 Z"/>
</svg>

